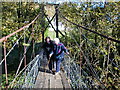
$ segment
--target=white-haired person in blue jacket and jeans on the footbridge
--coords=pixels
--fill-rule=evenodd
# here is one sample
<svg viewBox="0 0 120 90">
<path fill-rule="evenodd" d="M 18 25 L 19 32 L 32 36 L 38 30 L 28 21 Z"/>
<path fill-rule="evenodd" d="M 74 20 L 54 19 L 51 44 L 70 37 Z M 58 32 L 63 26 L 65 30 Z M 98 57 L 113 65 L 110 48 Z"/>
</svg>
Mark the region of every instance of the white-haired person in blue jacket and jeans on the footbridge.
<svg viewBox="0 0 120 90">
<path fill-rule="evenodd" d="M 56 74 L 60 72 L 60 64 L 64 58 L 64 52 L 69 54 L 68 50 L 63 43 L 60 42 L 58 38 L 54 39 L 53 50 L 51 51 L 49 57 L 53 55 L 54 61 L 56 62 Z"/>
</svg>

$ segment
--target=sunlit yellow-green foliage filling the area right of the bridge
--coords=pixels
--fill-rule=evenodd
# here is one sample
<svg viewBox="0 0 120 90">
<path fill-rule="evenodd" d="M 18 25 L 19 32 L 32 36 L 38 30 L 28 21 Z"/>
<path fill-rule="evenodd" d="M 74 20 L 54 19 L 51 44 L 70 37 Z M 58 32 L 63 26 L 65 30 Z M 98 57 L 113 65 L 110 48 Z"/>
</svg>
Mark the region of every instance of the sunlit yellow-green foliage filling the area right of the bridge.
<svg viewBox="0 0 120 90">
<path fill-rule="evenodd" d="M 61 5 L 60 13 L 76 24 L 120 40 L 119 4 L 120 2 L 106 3 L 105 7 L 91 8 L 92 3 L 83 3 L 79 6 L 74 3 L 65 3 Z M 120 58 L 119 44 L 78 28 L 62 18 L 60 20 L 65 27 L 69 27 L 67 37 L 65 37 L 66 40 L 64 38 L 61 38 L 61 40 L 67 43 L 67 47 L 72 54 L 71 56 L 75 58 L 75 61 L 81 64 L 79 62 L 80 57 L 82 57 L 82 68 L 87 69 L 88 67 L 84 65 L 86 64 L 86 57 L 98 73 L 99 79 L 105 87 L 107 89 L 117 89 L 120 80 L 118 70 L 118 63 L 120 62 L 118 59 Z M 81 47 L 84 55 L 81 54 L 81 49 L 78 46 Z M 115 65 L 118 65 L 118 67 L 111 61 Z M 88 73 L 90 72 L 88 71 Z M 99 84 L 96 79 L 94 81 Z"/>
</svg>

